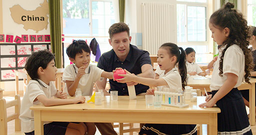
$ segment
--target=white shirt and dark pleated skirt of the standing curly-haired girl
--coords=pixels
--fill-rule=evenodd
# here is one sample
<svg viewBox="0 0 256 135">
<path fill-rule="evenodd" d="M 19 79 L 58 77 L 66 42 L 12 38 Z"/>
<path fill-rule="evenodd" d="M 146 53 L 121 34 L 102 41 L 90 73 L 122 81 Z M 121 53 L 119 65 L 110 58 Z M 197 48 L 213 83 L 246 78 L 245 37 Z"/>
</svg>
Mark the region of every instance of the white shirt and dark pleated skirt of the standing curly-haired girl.
<svg viewBox="0 0 256 135">
<path fill-rule="evenodd" d="M 221 54 L 222 52 L 219 52 L 212 72 L 210 83 L 212 97 L 227 79 L 227 73 L 237 75 L 238 79 L 232 90 L 216 102 L 221 110 L 217 114 L 218 134 L 252 134 L 241 93 L 237 89 L 244 79 L 245 58 L 243 51 L 236 44 L 226 49 L 223 56 L 223 74 L 219 76 L 218 68 Z"/>
</svg>

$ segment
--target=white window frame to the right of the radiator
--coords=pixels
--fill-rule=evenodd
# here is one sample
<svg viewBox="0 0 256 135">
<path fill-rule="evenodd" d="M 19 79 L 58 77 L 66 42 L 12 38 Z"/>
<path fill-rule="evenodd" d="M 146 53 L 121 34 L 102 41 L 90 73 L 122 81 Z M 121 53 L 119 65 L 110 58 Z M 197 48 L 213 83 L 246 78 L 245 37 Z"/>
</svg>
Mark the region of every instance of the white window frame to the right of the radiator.
<svg viewBox="0 0 256 135">
<path fill-rule="evenodd" d="M 208 48 L 208 1 L 206 2 L 187 2 L 187 1 L 176 1 L 176 4 L 184 4 L 185 5 L 185 41 L 177 42 L 178 46 L 189 46 L 189 45 L 206 45 Z M 187 40 L 187 6 L 202 6 L 205 7 L 205 15 L 206 15 L 206 40 L 205 41 L 188 41 Z"/>
</svg>

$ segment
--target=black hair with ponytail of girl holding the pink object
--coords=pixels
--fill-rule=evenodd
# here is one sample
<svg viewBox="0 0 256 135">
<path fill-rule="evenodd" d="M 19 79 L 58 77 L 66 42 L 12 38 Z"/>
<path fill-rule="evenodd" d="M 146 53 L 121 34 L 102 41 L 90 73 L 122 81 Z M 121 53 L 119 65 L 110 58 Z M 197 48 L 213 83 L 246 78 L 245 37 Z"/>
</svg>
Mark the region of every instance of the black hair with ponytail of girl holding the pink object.
<svg viewBox="0 0 256 135">
<path fill-rule="evenodd" d="M 186 85 L 186 56 L 185 56 L 185 51 L 183 50 L 182 47 L 178 47 L 176 44 L 167 42 L 163 43 L 160 48 L 164 48 L 168 51 L 170 56 L 175 55 L 177 57 L 178 62 L 178 70 L 179 74 L 181 76 L 181 83 L 182 83 L 182 88 L 185 88 Z M 179 51 L 180 50 L 180 51 Z"/>
</svg>

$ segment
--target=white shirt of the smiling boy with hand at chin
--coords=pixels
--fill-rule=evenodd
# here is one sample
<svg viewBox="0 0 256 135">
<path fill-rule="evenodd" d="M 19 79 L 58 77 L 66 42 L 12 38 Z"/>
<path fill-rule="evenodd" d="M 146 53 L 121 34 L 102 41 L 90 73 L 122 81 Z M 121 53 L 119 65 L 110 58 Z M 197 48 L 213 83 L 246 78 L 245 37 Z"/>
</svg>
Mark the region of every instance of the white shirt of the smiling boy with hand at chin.
<svg viewBox="0 0 256 135">
<path fill-rule="evenodd" d="M 68 65 L 62 76 L 62 81 L 66 82 L 66 80 L 74 81 L 76 75 L 77 75 L 78 68 L 75 64 Z M 99 80 L 101 73 L 104 70 L 98 68 L 95 65 L 89 64 L 87 68 L 85 68 L 85 74 L 82 75 L 82 77 L 79 80 L 77 88 L 80 88 L 82 91 L 82 96 L 86 95 L 92 95 L 93 85 L 95 81 Z M 67 95 L 67 86 L 66 83 L 64 85 L 64 91 Z"/>
</svg>

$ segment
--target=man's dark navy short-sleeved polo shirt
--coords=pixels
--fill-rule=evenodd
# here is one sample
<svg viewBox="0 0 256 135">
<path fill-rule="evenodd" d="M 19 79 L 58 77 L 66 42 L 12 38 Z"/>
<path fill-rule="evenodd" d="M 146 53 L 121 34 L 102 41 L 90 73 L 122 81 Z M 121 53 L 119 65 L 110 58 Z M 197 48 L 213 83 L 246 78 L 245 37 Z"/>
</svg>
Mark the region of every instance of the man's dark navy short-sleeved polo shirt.
<svg viewBox="0 0 256 135">
<path fill-rule="evenodd" d="M 144 64 L 151 64 L 149 53 L 145 50 L 138 49 L 137 46 L 130 44 L 130 49 L 126 59 L 122 62 L 117 59 L 117 56 L 113 49 L 103 53 L 98 60 L 97 67 L 104 71 L 112 72 L 116 67 L 125 68 L 130 73 L 141 73 L 141 66 Z M 109 79 L 110 89 L 118 90 L 118 95 L 128 95 L 128 89 L 126 83 L 119 83 Z M 135 85 L 136 94 L 146 92 L 149 87 L 142 84 Z"/>
</svg>

